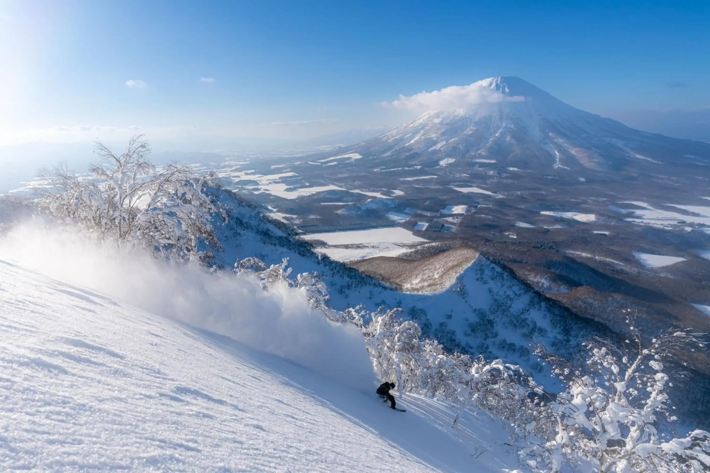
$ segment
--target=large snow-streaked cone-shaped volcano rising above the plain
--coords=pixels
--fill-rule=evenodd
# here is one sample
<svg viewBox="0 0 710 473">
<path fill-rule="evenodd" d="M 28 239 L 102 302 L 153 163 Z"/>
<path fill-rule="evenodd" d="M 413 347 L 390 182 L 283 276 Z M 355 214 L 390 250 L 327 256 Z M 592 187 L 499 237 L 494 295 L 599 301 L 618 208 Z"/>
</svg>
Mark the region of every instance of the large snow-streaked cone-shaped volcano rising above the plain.
<svg viewBox="0 0 710 473">
<path fill-rule="evenodd" d="M 628 128 L 569 106 L 519 77 L 400 96 L 392 105 L 431 109 L 352 148 L 383 165 L 461 168 L 495 162 L 520 169 L 618 171 L 710 162 L 707 143 Z"/>
</svg>

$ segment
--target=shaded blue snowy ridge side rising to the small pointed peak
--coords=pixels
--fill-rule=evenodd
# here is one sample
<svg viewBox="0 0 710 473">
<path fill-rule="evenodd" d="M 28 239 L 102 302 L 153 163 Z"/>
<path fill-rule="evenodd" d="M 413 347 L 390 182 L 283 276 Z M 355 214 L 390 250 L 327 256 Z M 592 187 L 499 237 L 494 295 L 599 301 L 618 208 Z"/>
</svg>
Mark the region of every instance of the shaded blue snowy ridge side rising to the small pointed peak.
<svg viewBox="0 0 710 473">
<path fill-rule="evenodd" d="M 218 265 L 229 268 L 237 258 L 248 256 L 268 264 L 288 257 L 294 272 L 316 271 L 325 277 L 331 304 L 338 310 L 359 304 L 371 311 L 400 307 L 403 316 L 419 323 L 426 337 L 436 338 L 449 350 L 500 357 L 532 372 L 541 372 L 531 355 L 533 340 L 569 352 L 589 334 L 585 321 L 559 311 L 480 255 L 445 290 L 403 293 L 317 255 L 290 234 L 293 229 L 264 218 L 236 194 L 219 191 L 219 199 L 233 212 L 228 223 L 216 223 L 224 245 L 224 251 L 215 255 Z"/>
</svg>

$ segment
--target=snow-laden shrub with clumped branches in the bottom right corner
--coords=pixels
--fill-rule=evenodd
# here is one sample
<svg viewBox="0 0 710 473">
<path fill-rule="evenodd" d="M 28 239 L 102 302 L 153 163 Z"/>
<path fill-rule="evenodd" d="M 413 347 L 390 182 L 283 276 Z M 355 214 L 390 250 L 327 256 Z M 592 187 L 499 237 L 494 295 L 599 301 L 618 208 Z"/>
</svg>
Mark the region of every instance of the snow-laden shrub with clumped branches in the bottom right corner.
<svg viewBox="0 0 710 473">
<path fill-rule="evenodd" d="M 645 344 L 628 320 L 633 340 L 619 349 L 601 339 L 585 343 L 586 369 L 550 352 L 537 354 L 567 383 L 554 401 L 535 407 L 528 430 L 542 438 L 522 452 L 530 466 L 559 472 L 564 464 L 589 472 L 701 472 L 710 468 L 710 434 L 662 442 L 661 416 L 674 420 L 663 360 L 672 352 L 704 347 L 699 334 L 670 330 Z"/>
</svg>

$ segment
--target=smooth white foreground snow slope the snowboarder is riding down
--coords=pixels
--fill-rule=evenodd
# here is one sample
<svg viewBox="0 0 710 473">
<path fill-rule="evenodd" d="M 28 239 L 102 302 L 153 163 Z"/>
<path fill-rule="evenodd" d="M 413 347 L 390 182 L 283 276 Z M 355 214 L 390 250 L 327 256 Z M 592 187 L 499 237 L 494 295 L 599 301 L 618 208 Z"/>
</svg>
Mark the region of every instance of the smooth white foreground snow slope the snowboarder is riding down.
<svg viewBox="0 0 710 473">
<path fill-rule="evenodd" d="M 0 470 L 501 472 L 501 426 L 398 413 L 231 338 L 0 259 Z M 483 452 L 481 454 L 481 452 Z M 479 455 L 480 454 L 480 455 Z"/>
</svg>

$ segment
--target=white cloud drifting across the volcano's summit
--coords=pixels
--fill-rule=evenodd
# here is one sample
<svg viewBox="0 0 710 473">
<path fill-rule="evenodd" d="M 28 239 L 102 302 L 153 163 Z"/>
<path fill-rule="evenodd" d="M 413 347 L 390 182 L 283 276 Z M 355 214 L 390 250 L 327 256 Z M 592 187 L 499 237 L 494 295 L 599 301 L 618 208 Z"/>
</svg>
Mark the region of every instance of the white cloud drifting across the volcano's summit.
<svg viewBox="0 0 710 473">
<path fill-rule="evenodd" d="M 473 104 L 487 104 L 501 101 L 524 101 L 522 96 L 508 96 L 500 91 L 486 87 L 479 82 L 470 85 L 453 85 L 432 92 L 420 92 L 413 96 L 399 96 L 392 102 L 383 105 L 393 108 L 427 108 L 440 110 L 443 108 L 462 108 Z"/>
</svg>

